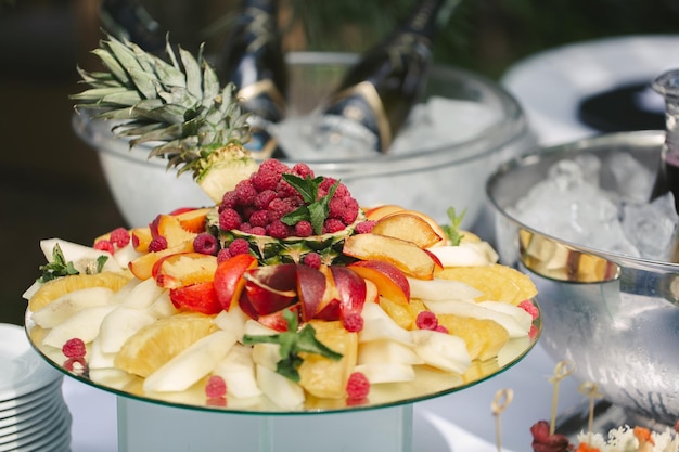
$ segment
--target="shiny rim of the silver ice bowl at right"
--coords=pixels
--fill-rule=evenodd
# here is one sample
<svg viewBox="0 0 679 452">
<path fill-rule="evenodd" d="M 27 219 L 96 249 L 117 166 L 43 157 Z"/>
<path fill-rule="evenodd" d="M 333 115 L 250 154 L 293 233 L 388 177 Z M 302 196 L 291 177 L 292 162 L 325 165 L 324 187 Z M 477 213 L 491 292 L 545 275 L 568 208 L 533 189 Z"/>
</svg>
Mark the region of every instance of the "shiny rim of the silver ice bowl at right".
<svg viewBox="0 0 679 452">
<path fill-rule="evenodd" d="M 565 247 L 574 249 L 579 253 L 590 254 L 603 259 L 606 259 L 611 262 L 618 264 L 624 268 L 635 268 L 640 270 L 646 270 L 652 272 L 659 273 L 679 273 L 679 263 L 672 262 L 663 262 L 653 259 L 644 259 L 639 257 L 632 257 L 628 255 L 623 255 L 618 253 L 611 253 L 600 248 L 590 247 L 581 244 L 577 244 L 574 242 L 569 242 L 558 236 L 545 233 L 535 228 L 531 228 L 528 224 L 523 223 L 514 216 L 510 215 L 504 207 L 500 206 L 497 198 L 494 196 L 496 192 L 496 185 L 499 181 L 516 170 L 517 168 L 528 167 L 536 165 L 537 163 L 551 158 L 551 157 L 561 157 L 567 156 L 572 154 L 577 154 L 580 151 L 585 151 L 587 148 L 597 147 L 601 145 L 653 145 L 656 144 L 658 150 L 664 142 L 665 131 L 664 130 L 640 130 L 640 131 L 631 131 L 631 132 L 616 132 L 616 133 L 604 133 L 590 138 L 580 139 L 577 141 L 558 144 L 550 147 L 545 147 L 541 150 L 533 151 L 530 153 L 524 154 L 516 158 L 510 159 L 503 164 L 501 164 L 496 170 L 488 177 L 486 181 L 486 196 L 494 207 L 496 214 L 502 215 L 504 218 L 511 220 L 518 228 L 527 230 L 531 233 L 541 235 L 543 237 L 550 238 L 556 243 L 562 244 Z"/>
</svg>

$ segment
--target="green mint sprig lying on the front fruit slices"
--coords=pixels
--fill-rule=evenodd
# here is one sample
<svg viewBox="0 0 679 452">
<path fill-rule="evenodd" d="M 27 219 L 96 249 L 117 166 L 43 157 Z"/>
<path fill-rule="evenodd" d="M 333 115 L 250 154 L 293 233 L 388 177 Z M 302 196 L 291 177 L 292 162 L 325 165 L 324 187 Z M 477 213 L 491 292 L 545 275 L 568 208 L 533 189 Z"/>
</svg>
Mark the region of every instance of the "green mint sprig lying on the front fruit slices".
<svg viewBox="0 0 679 452">
<path fill-rule="evenodd" d="M 299 382 L 299 372 L 297 370 L 304 362 L 299 356 L 300 352 L 320 354 L 330 358 L 333 361 L 340 361 L 342 353 L 331 350 L 316 338 L 316 330 L 311 324 L 307 323 L 297 331 L 297 314 L 286 309 L 283 318 L 287 322 L 287 331 L 284 333 L 265 335 L 245 335 L 243 336 L 244 345 L 255 344 L 278 344 L 281 346 L 281 360 L 276 365 L 276 372 L 293 382 Z"/>
</svg>

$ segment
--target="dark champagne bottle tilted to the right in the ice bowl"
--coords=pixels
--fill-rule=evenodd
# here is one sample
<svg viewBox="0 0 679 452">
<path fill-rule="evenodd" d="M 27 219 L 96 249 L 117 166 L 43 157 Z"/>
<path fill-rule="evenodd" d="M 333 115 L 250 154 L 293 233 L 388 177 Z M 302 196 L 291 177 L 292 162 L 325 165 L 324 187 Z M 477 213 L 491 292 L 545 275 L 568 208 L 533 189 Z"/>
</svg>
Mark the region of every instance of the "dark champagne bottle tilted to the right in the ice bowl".
<svg viewBox="0 0 679 452">
<path fill-rule="evenodd" d="M 344 156 L 386 153 L 421 100 L 432 40 L 458 0 L 420 0 L 390 36 L 368 50 L 324 102 L 315 144 Z"/>
</svg>

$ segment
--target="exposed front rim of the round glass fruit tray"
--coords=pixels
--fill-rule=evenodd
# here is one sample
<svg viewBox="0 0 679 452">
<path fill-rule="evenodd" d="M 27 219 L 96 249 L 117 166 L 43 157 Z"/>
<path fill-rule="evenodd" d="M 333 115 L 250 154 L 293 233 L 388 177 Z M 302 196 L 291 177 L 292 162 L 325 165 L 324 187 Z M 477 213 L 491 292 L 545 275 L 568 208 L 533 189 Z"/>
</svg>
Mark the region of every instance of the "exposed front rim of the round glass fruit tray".
<svg viewBox="0 0 679 452">
<path fill-rule="evenodd" d="M 539 306 L 534 300 L 536 307 Z M 61 349 L 42 346 L 41 337 L 48 332 L 37 326 L 26 312 L 25 325 L 33 347 L 44 360 L 65 375 L 94 388 L 113 392 L 137 401 L 151 402 L 161 405 L 197 411 L 225 412 L 232 414 L 319 414 L 345 413 L 372 409 L 394 408 L 445 396 L 463 390 L 481 382 L 502 373 L 520 362 L 537 343 L 542 330 L 541 313 L 533 322 L 535 328 L 530 336 L 510 339 L 500 350 L 497 358 L 486 361 L 473 361 L 464 374 L 446 373 L 434 369 L 415 365 L 415 379 L 407 383 L 374 384 L 371 386 L 367 401 L 360 404 L 347 403 L 347 400 L 317 399 L 307 395 L 306 402 L 298 410 L 281 410 L 266 397 L 239 399 L 227 395 L 226 403 L 214 404 L 205 396 L 205 379 L 197 382 L 182 392 L 144 393 L 143 378 L 132 376 L 126 372 L 105 369 L 86 372 L 69 371 L 64 367 L 65 357 Z"/>
</svg>

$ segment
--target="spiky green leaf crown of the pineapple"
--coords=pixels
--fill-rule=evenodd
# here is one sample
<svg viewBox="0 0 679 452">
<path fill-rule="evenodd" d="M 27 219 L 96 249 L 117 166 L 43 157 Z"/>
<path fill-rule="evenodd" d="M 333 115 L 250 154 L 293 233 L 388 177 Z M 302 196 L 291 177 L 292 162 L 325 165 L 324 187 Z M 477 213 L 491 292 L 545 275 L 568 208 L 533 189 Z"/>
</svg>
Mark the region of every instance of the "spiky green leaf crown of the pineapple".
<svg viewBox="0 0 679 452">
<path fill-rule="evenodd" d="M 235 98 L 236 88 L 220 88 L 215 69 L 203 56 L 166 41 L 168 62 L 128 40 L 110 35 L 92 51 L 106 68 L 87 72 L 78 67 L 89 89 L 71 95 L 76 109 L 94 111 L 94 117 L 119 121 L 118 137 L 136 137 L 130 147 L 162 142 L 149 157 L 165 156 L 168 169 L 193 170 L 215 150 L 249 139 L 248 114 Z"/>
</svg>

